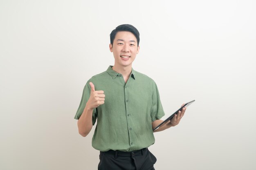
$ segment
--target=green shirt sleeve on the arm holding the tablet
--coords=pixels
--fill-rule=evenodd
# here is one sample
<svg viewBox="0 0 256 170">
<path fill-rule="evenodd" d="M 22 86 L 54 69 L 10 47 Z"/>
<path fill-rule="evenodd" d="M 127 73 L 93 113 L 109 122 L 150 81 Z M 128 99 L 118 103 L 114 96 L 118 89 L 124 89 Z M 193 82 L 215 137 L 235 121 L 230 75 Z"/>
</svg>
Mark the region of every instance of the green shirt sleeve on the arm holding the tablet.
<svg viewBox="0 0 256 170">
<path fill-rule="evenodd" d="M 151 122 L 161 119 L 164 116 L 164 109 L 160 100 L 159 92 L 155 82 L 152 85 L 152 106 L 150 110 Z"/>
</svg>

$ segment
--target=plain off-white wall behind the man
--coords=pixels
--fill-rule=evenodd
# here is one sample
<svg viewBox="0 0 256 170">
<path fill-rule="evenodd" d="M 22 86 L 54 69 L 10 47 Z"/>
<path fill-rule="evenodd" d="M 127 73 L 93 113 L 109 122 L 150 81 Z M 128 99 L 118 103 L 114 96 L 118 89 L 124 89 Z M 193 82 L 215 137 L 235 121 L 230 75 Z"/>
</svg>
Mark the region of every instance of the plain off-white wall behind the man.
<svg viewBox="0 0 256 170">
<path fill-rule="evenodd" d="M 140 32 L 133 68 L 155 80 L 167 118 L 157 170 L 255 170 L 254 0 L 0 0 L 0 169 L 96 170 L 78 133 L 83 86 L 114 64 L 109 34 Z M 95 127 L 94 127 L 95 128 Z"/>
</svg>

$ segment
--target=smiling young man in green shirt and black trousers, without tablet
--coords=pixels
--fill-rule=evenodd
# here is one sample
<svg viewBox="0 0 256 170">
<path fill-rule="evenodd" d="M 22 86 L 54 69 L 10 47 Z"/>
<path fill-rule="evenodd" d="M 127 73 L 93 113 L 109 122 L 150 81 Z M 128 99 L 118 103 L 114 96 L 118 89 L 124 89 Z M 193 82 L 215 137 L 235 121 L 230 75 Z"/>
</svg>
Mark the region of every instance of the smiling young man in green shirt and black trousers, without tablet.
<svg viewBox="0 0 256 170">
<path fill-rule="evenodd" d="M 99 170 L 154 170 L 153 128 L 164 111 L 157 85 L 132 69 L 139 53 L 139 31 L 132 25 L 117 26 L 110 34 L 114 66 L 93 76 L 83 89 L 75 119 L 79 134 L 88 135 L 97 119 L 92 146 L 100 150 Z M 186 108 L 156 131 L 180 122 Z M 156 132 L 155 131 L 155 132 Z"/>
</svg>

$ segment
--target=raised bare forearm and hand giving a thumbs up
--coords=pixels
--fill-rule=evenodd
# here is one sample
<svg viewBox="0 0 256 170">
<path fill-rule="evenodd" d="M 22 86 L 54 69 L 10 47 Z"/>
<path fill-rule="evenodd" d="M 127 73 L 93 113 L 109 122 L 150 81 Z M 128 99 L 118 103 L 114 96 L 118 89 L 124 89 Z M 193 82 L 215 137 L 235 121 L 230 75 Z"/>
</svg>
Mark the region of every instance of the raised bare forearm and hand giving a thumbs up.
<svg viewBox="0 0 256 170">
<path fill-rule="evenodd" d="M 99 105 L 104 104 L 105 95 L 102 90 L 95 91 L 95 87 L 92 82 L 90 82 L 91 93 L 88 102 L 85 105 L 82 115 L 77 121 L 78 132 L 83 137 L 87 136 L 92 130 L 92 111 L 94 108 L 99 107 Z"/>
</svg>

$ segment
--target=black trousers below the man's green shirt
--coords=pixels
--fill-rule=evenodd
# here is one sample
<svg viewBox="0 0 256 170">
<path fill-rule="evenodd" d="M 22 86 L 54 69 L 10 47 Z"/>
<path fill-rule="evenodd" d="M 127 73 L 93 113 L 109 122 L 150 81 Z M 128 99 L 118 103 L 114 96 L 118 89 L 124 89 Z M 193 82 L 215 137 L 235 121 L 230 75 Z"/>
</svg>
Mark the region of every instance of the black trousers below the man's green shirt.
<svg viewBox="0 0 256 170">
<path fill-rule="evenodd" d="M 100 152 L 98 170 L 155 170 L 156 157 L 148 148 L 132 152 Z"/>
</svg>

